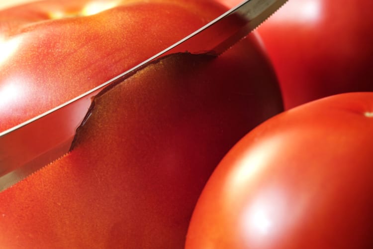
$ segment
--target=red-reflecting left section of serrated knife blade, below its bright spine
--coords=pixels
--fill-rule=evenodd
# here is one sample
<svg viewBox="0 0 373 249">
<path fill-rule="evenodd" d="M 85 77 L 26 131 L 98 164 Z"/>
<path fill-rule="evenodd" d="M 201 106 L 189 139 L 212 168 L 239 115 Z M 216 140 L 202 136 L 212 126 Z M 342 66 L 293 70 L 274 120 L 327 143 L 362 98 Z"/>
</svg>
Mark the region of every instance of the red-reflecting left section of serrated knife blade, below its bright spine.
<svg viewBox="0 0 373 249">
<path fill-rule="evenodd" d="M 90 105 L 86 96 L 2 134 L 0 191 L 66 154 Z"/>
</svg>

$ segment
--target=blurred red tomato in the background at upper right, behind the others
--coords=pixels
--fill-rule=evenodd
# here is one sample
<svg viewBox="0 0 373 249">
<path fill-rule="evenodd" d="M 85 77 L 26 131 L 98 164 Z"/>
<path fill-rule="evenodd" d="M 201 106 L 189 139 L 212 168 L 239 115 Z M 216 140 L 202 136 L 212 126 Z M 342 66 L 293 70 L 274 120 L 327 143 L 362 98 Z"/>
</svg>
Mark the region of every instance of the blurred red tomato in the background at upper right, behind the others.
<svg viewBox="0 0 373 249">
<path fill-rule="evenodd" d="M 373 1 L 289 0 L 258 28 L 285 109 L 373 91 Z"/>
</svg>

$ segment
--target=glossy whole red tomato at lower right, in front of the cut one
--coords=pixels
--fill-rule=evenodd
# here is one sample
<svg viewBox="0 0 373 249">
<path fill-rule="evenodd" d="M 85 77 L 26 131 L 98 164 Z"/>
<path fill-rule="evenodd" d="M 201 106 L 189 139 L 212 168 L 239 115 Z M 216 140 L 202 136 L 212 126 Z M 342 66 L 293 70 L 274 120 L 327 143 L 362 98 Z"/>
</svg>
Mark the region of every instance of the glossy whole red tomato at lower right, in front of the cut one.
<svg viewBox="0 0 373 249">
<path fill-rule="evenodd" d="M 284 112 L 221 161 L 186 248 L 373 248 L 372 155 L 373 93 Z"/>
</svg>

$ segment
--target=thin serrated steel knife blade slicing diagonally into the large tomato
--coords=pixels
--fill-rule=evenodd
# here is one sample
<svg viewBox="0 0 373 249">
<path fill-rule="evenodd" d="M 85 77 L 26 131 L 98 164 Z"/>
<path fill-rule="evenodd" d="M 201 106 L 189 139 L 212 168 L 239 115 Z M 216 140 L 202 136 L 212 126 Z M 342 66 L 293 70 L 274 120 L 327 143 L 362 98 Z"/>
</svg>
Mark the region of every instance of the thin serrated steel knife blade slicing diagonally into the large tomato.
<svg viewBox="0 0 373 249">
<path fill-rule="evenodd" d="M 244 0 L 167 49 L 90 91 L 22 124 L 0 132 L 0 191 L 11 187 L 71 149 L 76 129 L 86 120 L 92 100 L 168 54 L 219 55 L 270 17 L 287 0 Z"/>
</svg>

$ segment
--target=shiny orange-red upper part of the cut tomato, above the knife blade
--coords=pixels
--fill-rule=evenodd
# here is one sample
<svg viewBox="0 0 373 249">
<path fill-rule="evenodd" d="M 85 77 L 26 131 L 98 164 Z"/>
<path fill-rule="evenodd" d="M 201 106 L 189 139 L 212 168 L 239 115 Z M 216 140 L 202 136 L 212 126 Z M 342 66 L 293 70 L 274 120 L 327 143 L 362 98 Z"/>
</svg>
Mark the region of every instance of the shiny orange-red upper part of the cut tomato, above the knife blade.
<svg viewBox="0 0 373 249">
<path fill-rule="evenodd" d="M 110 80 L 225 10 L 214 0 L 43 0 L 1 9 L 0 131 Z"/>
</svg>

